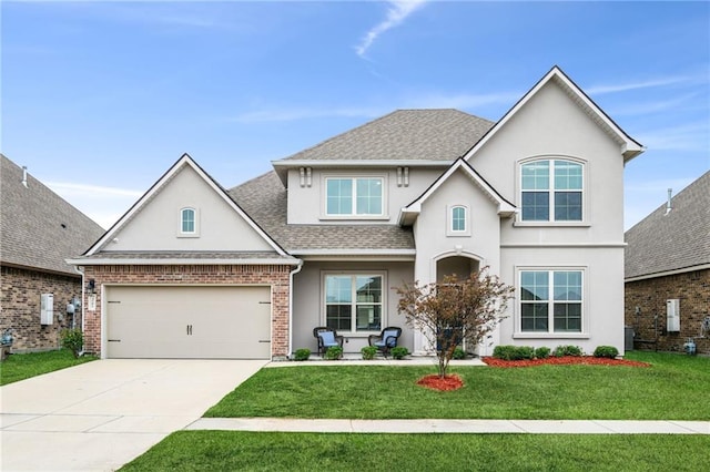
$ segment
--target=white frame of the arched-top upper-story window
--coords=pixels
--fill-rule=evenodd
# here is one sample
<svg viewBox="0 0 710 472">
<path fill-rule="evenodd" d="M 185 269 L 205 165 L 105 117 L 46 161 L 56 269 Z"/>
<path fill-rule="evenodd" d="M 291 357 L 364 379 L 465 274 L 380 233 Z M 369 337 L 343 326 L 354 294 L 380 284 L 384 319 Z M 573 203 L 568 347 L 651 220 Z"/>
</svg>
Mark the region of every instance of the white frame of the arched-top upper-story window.
<svg viewBox="0 0 710 472">
<path fill-rule="evenodd" d="M 523 193 L 535 192 L 535 191 L 526 191 L 523 188 L 523 166 L 527 164 L 534 164 L 536 162 L 542 162 L 542 161 L 546 161 L 549 163 L 548 178 L 550 182 L 550 188 L 548 188 L 547 191 L 540 191 L 540 192 L 548 193 L 548 209 L 549 209 L 548 219 L 523 219 Z M 565 192 L 564 189 L 557 191 L 555 188 L 555 161 L 569 162 L 571 164 L 577 164 L 581 166 L 581 189 L 572 191 L 572 192 L 581 193 L 581 219 L 560 219 L 560 220 L 555 219 L 555 194 L 557 192 Z M 515 226 L 576 226 L 576 227 L 590 226 L 587 220 L 588 208 L 589 208 L 589 197 L 587 195 L 587 188 L 588 188 L 587 161 L 578 157 L 566 156 L 566 155 L 544 155 L 544 156 L 535 156 L 535 157 L 529 157 L 529 158 L 519 161 L 516 170 L 517 170 L 516 183 L 517 183 L 517 195 L 518 195 L 518 202 L 519 202 L 519 205 L 518 205 L 519 212 L 518 212 L 518 215 L 516 216 Z"/>
</svg>

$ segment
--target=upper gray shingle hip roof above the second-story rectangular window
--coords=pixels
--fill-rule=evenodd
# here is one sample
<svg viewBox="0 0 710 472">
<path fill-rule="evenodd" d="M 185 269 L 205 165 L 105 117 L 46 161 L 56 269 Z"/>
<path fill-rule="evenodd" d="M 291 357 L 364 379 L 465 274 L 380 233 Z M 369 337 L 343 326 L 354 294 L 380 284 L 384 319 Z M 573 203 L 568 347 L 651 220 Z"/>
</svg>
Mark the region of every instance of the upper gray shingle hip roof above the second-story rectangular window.
<svg viewBox="0 0 710 472">
<path fill-rule="evenodd" d="M 494 125 L 458 110 L 397 110 L 284 161 L 454 161 Z"/>
</svg>

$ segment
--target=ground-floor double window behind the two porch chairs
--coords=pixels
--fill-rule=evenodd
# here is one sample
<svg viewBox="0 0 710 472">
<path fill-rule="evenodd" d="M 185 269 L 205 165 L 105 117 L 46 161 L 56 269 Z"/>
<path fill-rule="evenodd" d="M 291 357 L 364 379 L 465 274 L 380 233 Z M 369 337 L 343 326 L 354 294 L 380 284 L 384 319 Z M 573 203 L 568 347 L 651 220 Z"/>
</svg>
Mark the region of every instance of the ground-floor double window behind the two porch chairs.
<svg viewBox="0 0 710 472">
<path fill-rule="evenodd" d="M 381 330 L 383 278 L 383 275 L 326 275 L 325 325 L 345 332 Z"/>
</svg>

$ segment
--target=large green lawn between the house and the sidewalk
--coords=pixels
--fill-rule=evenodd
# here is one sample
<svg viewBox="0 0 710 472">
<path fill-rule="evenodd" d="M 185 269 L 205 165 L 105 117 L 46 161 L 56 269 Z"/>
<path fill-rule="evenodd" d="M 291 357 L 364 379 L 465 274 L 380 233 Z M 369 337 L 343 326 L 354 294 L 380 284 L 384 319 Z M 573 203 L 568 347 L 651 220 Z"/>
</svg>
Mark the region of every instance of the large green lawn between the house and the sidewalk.
<svg viewBox="0 0 710 472">
<path fill-rule="evenodd" d="M 710 420 L 710 358 L 633 352 L 650 368 L 456 367 L 463 389 L 415 384 L 428 367 L 262 369 L 205 417 Z"/>
</svg>

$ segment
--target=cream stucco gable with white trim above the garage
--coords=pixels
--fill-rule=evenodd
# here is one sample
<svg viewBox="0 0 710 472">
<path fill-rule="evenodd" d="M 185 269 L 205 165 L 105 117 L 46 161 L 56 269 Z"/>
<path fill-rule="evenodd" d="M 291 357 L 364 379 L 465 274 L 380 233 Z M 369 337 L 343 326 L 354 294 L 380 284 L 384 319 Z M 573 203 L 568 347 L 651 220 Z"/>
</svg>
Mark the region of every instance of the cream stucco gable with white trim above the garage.
<svg viewBox="0 0 710 472">
<path fill-rule="evenodd" d="M 195 207 L 199 238 L 176 237 L 182 207 Z M 183 154 L 85 256 L 116 250 L 184 253 L 207 247 L 212 252 L 286 255 L 192 157 Z"/>
</svg>

